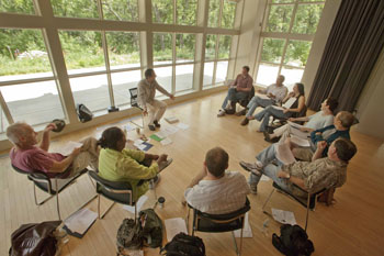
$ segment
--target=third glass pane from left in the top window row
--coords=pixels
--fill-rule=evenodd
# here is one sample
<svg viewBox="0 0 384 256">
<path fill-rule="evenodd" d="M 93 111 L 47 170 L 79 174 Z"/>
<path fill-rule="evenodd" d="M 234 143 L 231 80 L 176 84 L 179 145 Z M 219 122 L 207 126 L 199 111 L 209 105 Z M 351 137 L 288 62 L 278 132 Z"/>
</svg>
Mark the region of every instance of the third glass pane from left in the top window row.
<svg viewBox="0 0 384 256">
<path fill-rule="evenodd" d="M 102 0 L 105 20 L 138 21 L 137 0 Z"/>
</svg>

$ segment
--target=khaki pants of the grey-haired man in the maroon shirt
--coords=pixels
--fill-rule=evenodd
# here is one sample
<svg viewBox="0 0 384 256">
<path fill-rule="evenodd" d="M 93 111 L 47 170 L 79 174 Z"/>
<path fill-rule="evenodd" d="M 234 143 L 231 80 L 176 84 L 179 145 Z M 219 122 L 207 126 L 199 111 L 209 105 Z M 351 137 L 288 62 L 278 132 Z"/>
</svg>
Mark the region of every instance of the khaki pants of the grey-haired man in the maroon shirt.
<svg viewBox="0 0 384 256">
<path fill-rule="evenodd" d="M 98 140 L 94 137 L 87 137 L 80 142 L 82 143 L 81 152 L 72 162 L 69 177 L 77 175 L 88 166 L 91 166 L 94 170 L 99 167 Z"/>
</svg>

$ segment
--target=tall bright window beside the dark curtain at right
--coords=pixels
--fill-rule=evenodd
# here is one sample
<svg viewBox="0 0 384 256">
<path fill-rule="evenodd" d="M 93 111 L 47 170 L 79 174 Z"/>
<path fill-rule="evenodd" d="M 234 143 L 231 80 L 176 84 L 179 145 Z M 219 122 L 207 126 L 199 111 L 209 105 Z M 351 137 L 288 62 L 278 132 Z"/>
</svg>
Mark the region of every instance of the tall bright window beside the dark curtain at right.
<svg viewBox="0 0 384 256">
<path fill-rule="evenodd" d="M 292 88 L 301 81 L 324 1 L 270 0 L 261 33 L 257 84 L 270 85 L 285 76 Z"/>
</svg>

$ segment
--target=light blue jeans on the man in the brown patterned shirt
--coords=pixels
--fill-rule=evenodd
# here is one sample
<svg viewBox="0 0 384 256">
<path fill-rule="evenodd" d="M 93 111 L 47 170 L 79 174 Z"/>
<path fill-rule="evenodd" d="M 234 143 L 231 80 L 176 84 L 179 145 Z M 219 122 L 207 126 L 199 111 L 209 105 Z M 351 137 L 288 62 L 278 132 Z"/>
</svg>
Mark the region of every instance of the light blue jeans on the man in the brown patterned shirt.
<svg viewBox="0 0 384 256">
<path fill-rule="evenodd" d="M 263 168 L 262 168 L 262 174 L 267 175 L 270 177 L 274 182 L 276 182 L 282 189 L 289 190 L 289 187 L 286 185 L 286 179 L 282 179 L 278 177 L 278 172 L 283 166 L 283 163 L 281 163 L 276 158 L 276 153 L 275 153 L 275 144 L 270 145 L 269 147 L 264 148 L 262 152 L 257 155 L 257 159 L 262 163 Z M 272 162 L 276 162 L 278 166 L 274 164 L 271 164 Z M 253 172 L 250 174 L 249 176 L 249 185 L 250 186 L 258 186 L 260 181 L 261 176 L 257 176 Z"/>
</svg>

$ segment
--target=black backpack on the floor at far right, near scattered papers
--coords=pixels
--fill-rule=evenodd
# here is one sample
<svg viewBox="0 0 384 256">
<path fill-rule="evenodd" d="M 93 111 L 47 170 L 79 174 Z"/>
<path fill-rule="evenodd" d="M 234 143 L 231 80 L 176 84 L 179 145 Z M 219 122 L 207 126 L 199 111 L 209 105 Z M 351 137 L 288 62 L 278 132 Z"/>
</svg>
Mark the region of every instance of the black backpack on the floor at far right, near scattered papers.
<svg viewBox="0 0 384 256">
<path fill-rule="evenodd" d="M 300 225 L 284 224 L 280 227 L 280 237 L 272 235 L 272 244 L 286 256 L 309 256 L 315 252 L 314 244 Z"/>
</svg>

